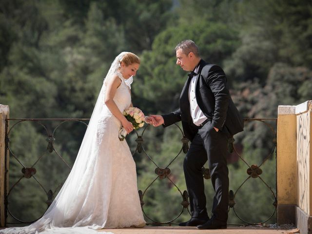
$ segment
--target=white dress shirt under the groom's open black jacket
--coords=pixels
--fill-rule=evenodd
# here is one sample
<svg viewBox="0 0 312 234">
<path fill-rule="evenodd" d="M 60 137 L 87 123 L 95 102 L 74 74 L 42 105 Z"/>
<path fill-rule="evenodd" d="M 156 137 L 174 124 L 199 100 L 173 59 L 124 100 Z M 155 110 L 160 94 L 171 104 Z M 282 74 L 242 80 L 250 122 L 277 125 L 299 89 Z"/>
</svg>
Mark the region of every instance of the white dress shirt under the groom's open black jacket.
<svg viewBox="0 0 312 234">
<path fill-rule="evenodd" d="M 197 66 L 194 70 L 195 73 L 198 73 L 199 66 Z M 201 123 L 203 123 L 207 117 L 204 115 L 204 113 L 200 110 L 196 96 L 195 96 L 195 82 L 196 82 L 196 76 L 194 76 L 191 80 L 190 87 L 189 87 L 189 100 L 190 100 L 190 111 L 191 111 L 191 117 L 193 120 L 193 123 L 197 126 L 199 126 Z"/>
</svg>

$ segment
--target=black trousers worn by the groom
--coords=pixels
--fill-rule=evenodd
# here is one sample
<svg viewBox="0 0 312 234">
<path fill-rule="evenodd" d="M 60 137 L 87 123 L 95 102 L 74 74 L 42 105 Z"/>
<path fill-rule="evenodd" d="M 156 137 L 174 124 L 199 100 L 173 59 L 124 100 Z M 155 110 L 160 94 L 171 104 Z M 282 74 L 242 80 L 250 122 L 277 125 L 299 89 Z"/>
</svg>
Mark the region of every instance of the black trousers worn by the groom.
<svg viewBox="0 0 312 234">
<path fill-rule="evenodd" d="M 192 217 L 208 218 L 204 178 L 201 168 L 208 160 L 211 182 L 215 190 L 212 214 L 220 221 L 228 219 L 229 170 L 227 166 L 227 139 L 229 132 L 216 132 L 211 122 L 207 122 L 198 132 L 187 152 L 184 163 L 184 175 L 190 197 Z"/>
</svg>

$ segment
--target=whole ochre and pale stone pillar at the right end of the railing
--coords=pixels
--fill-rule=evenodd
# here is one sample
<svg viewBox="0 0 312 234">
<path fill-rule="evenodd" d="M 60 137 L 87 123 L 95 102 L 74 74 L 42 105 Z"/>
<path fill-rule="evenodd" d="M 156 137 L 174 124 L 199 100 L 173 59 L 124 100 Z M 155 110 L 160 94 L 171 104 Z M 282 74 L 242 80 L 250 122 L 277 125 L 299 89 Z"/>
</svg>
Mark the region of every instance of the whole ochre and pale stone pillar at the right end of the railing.
<svg viewBox="0 0 312 234">
<path fill-rule="evenodd" d="M 312 234 L 312 101 L 279 106 L 277 118 L 277 224 Z"/>
</svg>

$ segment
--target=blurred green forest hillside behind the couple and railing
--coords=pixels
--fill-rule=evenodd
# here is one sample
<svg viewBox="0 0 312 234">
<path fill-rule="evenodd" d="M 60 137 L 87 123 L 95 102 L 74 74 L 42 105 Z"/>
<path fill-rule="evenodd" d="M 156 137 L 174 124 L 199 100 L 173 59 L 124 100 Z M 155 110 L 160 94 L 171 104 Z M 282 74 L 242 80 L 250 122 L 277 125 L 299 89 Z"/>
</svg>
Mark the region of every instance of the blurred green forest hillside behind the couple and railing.
<svg viewBox="0 0 312 234">
<path fill-rule="evenodd" d="M 9 105 L 11 118 L 90 118 L 111 62 L 121 51 L 131 51 L 141 58 L 132 85 L 134 106 L 145 114 L 169 113 L 178 107 L 187 78 L 174 51 L 183 39 L 194 40 L 204 60 L 224 69 L 245 118 L 276 118 L 278 105 L 312 99 L 311 0 L 1 0 L 0 104 Z M 276 129 L 274 120 L 269 123 Z M 53 129 L 59 122 L 43 124 Z M 85 129 L 67 122 L 55 132 L 54 147 L 70 166 Z M 35 177 L 46 191 L 34 177 L 21 179 L 10 191 L 9 210 L 22 220 L 44 213 L 51 201 L 46 192 L 51 190 L 53 199 L 70 171 L 56 152 L 47 152 L 46 137 L 42 126 L 27 121 L 10 133 L 11 151 L 25 167 L 42 156 Z M 234 143 L 250 165 L 267 159 L 261 178 L 276 193 L 274 137 L 252 121 Z M 144 149 L 164 168 L 179 153 L 181 138 L 175 125 L 148 127 Z M 133 152 L 135 139 L 135 133 L 127 137 Z M 23 175 L 14 156 L 10 187 Z M 186 190 L 183 157 L 182 152 L 169 167 L 181 192 Z M 144 191 L 156 178 L 156 165 L 144 153 L 134 158 L 138 189 Z M 248 178 L 248 166 L 235 154 L 228 162 L 235 192 Z M 144 212 L 156 221 L 171 220 L 182 209 L 170 180 L 156 179 L 144 194 Z M 248 179 L 235 195 L 237 215 L 252 223 L 268 219 L 275 209 L 268 187 L 259 178 Z M 210 211 L 210 180 L 205 190 Z M 188 218 L 184 211 L 175 222 Z M 9 215 L 8 221 L 16 220 Z M 274 222 L 275 215 L 266 223 Z M 243 223 L 233 209 L 229 223 Z"/>
</svg>

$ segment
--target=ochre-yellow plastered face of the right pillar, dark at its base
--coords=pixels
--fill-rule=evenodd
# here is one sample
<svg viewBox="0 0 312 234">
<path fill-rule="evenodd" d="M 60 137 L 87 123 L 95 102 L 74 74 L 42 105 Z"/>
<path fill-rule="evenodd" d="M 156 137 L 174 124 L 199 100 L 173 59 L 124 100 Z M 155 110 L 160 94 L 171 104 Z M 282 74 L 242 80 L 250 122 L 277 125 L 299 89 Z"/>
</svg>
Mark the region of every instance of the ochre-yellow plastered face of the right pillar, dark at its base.
<svg viewBox="0 0 312 234">
<path fill-rule="evenodd" d="M 277 224 L 295 224 L 297 207 L 295 106 L 278 106 L 277 116 Z"/>
</svg>

